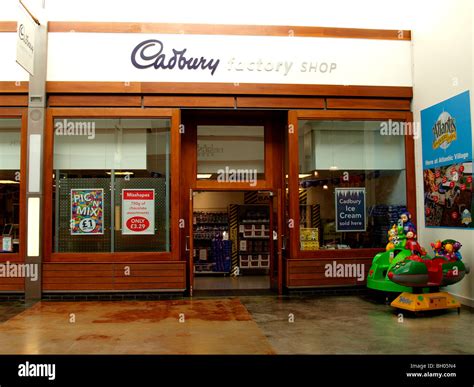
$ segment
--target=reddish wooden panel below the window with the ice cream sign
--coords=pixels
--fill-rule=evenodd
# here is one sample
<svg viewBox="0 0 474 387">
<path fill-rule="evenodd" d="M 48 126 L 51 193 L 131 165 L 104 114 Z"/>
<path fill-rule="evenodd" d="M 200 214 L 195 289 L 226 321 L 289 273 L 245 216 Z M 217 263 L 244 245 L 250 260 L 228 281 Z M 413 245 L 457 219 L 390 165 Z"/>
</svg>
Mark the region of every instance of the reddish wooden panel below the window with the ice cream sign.
<svg viewBox="0 0 474 387">
<path fill-rule="evenodd" d="M 325 259 L 288 259 L 286 260 L 286 286 L 288 288 L 317 288 L 325 286 L 355 286 L 365 285 L 367 273 L 372 264 L 370 258 L 325 258 Z M 363 264 L 364 280 L 358 281 L 354 277 L 327 277 L 326 265 L 336 264 Z"/>
</svg>

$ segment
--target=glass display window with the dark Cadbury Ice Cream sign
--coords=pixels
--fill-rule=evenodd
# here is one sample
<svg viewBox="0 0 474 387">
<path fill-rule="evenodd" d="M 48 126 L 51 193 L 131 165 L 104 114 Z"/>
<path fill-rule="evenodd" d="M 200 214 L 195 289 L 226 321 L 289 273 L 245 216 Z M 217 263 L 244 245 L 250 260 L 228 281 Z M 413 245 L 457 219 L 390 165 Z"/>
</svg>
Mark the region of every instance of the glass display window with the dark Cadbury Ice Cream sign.
<svg viewBox="0 0 474 387">
<path fill-rule="evenodd" d="M 383 124 L 299 121 L 301 250 L 387 244 L 406 210 L 405 139 Z"/>
</svg>

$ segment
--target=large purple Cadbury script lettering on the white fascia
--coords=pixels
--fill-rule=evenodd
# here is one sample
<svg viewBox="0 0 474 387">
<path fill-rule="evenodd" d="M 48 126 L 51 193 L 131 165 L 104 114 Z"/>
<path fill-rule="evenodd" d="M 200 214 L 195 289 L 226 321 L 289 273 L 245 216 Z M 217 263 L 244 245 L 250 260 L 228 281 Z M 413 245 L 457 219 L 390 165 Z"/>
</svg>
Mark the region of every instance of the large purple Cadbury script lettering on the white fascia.
<svg viewBox="0 0 474 387">
<path fill-rule="evenodd" d="M 214 75 L 219 66 L 219 59 L 206 59 L 204 57 L 187 57 L 187 48 L 182 50 L 172 49 L 172 54 L 163 52 L 163 43 L 157 39 L 148 39 L 139 43 L 132 51 L 132 64 L 137 69 L 173 70 L 209 70 Z"/>
</svg>

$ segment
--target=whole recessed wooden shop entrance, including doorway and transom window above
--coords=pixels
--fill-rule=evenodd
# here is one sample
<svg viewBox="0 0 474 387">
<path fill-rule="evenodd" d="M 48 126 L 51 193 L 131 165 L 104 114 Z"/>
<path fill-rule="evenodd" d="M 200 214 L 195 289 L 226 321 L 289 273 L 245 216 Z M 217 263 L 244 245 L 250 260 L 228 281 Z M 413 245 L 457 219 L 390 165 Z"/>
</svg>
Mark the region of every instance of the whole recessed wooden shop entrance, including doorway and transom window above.
<svg viewBox="0 0 474 387">
<path fill-rule="evenodd" d="M 282 111 L 183 112 L 191 295 L 281 292 L 286 120 Z"/>
</svg>

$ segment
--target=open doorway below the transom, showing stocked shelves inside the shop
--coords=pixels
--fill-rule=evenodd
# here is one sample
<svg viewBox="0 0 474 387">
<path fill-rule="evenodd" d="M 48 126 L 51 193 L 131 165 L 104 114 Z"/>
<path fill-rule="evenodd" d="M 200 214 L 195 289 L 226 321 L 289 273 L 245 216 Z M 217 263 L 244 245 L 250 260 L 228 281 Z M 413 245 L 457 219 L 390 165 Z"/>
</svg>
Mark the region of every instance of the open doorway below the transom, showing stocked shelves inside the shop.
<svg viewBox="0 0 474 387">
<path fill-rule="evenodd" d="M 196 290 L 281 293 L 281 192 L 193 191 L 189 271 Z"/>
</svg>

